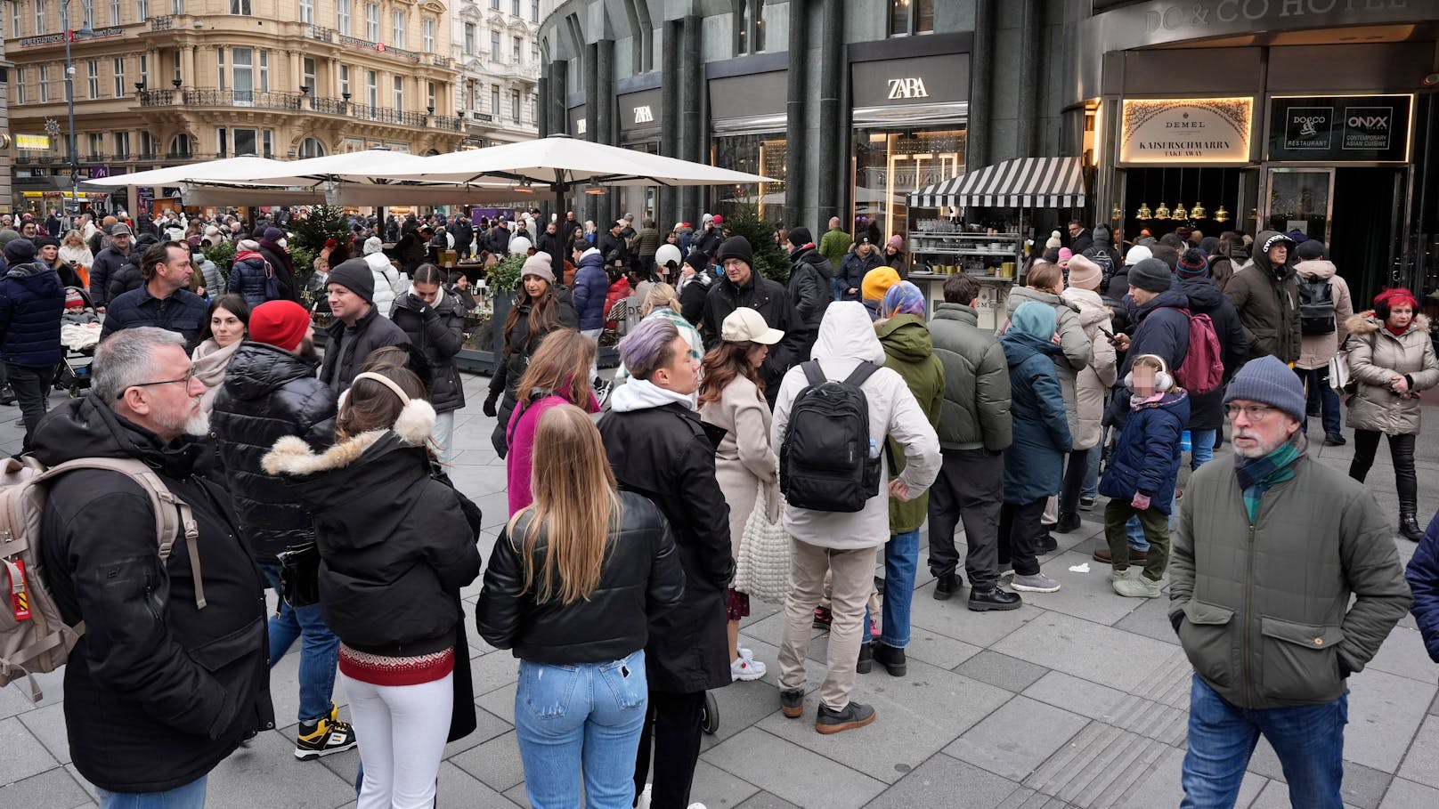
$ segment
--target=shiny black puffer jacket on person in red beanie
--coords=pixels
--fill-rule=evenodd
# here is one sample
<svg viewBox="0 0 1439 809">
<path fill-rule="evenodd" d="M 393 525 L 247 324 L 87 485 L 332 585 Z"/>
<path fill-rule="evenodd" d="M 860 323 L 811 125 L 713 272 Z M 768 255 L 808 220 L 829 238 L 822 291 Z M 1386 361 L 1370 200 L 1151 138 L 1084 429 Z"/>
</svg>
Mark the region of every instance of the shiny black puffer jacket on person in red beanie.
<svg viewBox="0 0 1439 809">
<path fill-rule="evenodd" d="M 250 551 L 275 564 L 275 554 L 315 538 L 315 524 L 299 497 L 260 458 L 276 440 L 298 435 L 317 449 L 335 438 L 335 394 L 315 379 L 315 367 L 265 343 L 240 345 L 214 396 L 210 429 L 235 497 L 240 531 Z"/>
</svg>

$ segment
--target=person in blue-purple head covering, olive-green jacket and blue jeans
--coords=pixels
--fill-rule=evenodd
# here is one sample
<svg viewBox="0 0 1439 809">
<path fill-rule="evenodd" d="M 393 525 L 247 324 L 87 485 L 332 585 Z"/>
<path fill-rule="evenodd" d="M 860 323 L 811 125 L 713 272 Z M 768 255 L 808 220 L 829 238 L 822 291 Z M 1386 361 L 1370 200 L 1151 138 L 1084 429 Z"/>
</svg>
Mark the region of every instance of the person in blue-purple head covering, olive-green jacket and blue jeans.
<svg viewBox="0 0 1439 809">
<path fill-rule="evenodd" d="M 938 430 L 940 409 L 944 404 L 944 363 L 934 356 L 934 340 L 924 318 L 924 292 L 914 284 L 901 281 L 885 292 L 879 314 L 882 317 L 875 322 L 875 334 L 885 350 L 885 367 L 904 379 L 930 428 Z M 886 449 L 894 459 L 895 474 L 902 474 L 907 465 L 904 446 L 891 436 Z M 920 567 L 920 528 L 928 510 L 928 489 L 918 497 L 889 498 L 889 541 L 884 550 L 885 599 L 881 613 L 884 629 L 879 641 L 863 646 L 872 646 L 873 661 L 894 677 L 904 677 L 908 669 L 904 651 L 909 645 L 909 607 L 914 603 L 914 576 Z M 865 658 L 863 646 L 861 659 Z"/>
</svg>

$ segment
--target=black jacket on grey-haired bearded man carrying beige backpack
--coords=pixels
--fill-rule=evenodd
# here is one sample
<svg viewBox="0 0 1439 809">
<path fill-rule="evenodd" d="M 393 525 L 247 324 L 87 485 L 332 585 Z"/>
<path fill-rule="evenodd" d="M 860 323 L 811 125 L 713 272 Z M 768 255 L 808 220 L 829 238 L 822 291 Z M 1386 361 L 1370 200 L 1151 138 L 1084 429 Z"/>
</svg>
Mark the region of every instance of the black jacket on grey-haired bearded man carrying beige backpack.
<svg viewBox="0 0 1439 809">
<path fill-rule="evenodd" d="M 62 402 L 32 439 L 46 465 L 137 458 L 190 505 L 204 609 L 184 537 L 160 561 L 150 497 L 118 472 L 76 471 L 50 488 L 40 521 L 46 582 L 85 636 L 65 666 L 65 726 L 75 767 L 111 792 L 161 792 L 209 773 L 259 730 L 275 727 L 269 698 L 265 580 L 230 514 L 230 495 L 204 478 L 209 453 L 117 416 L 94 396 Z"/>
</svg>

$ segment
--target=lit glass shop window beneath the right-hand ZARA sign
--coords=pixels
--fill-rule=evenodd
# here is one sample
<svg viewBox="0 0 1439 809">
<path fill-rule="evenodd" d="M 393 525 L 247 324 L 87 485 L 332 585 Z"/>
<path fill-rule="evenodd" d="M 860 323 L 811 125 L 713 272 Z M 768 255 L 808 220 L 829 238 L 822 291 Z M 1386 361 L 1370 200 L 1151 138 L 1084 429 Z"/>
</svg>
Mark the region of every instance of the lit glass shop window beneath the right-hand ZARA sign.
<svg viewBox="0 0 1439 809">
<path fill-rule="evenodd" d="M 876 222 L 889 238 L 907 229 L 905 194 L 964 171 L 964 127 L 855 130 L 850 227 Z"/>
</svg>

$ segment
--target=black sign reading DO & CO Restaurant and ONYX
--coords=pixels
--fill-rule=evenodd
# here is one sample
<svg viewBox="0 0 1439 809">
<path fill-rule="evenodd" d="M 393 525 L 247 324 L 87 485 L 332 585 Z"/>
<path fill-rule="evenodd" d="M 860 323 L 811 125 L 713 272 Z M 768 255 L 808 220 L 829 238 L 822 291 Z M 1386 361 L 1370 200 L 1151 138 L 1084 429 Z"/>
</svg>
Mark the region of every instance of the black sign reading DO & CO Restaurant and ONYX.
<svg viewBox="0 0 1439 809">
<path fill-rule="evenodd" d="M 1412 95 L 1275 98 L 1269 104 L 1269 160 L 1409 160 Z"/>
</svg>

